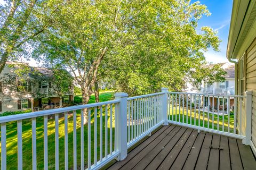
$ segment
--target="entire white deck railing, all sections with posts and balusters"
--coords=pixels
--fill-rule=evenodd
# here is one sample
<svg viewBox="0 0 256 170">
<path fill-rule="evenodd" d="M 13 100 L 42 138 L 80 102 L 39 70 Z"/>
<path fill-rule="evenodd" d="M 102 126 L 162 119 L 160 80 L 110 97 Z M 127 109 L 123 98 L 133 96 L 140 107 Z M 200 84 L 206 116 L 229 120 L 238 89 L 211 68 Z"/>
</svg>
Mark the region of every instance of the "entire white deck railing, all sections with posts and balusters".
<svg viewBox="0 0 256 170">
<path fill-rule="evenodd" d="M 239 108 L 235 104 L 231 107 L 233 100 Z M 168 92 L 167 88 L 162 88 L 162 92 L 156 94 L 128 98 L 125 93 L 116 93 L 115 100 L 111 101 L 0 117 L 1 169 L 15 163 L 12 160 L 15 156 L 7 157 L 10 155 L 7 154 L 9 149 L 15 147 L 14 145 L 17 146 L 18 169 L 24 166 L 22 158 L 30 154 L 32 163 L 31 167 L 26 164 L 28 169 L 48 169 L 49 166 L 55 169 L 99 169 L 113 159 L 123 160 L 127 156 L 128 148 L 168 122 L 246 139 L 250 134 L 242 134 L 241 120 L 242 116 L 248 114 L 240 114 L 238 120 L 241 122 L 237 122 L 237 111 L 239 109 L 242 112 L 244 101 L 246 107 L 250 108 L 247 100 L 251 100 L 250 94 L 191 94 Z M 234 115 L 230 114 L 233 112 Z M 84 124 L 84 113 L 87 114 L 87 124 Z M 248 118 L 250 116 L 246 117 Z M 22 130 L 23 126 L 27 127 L 30 123 L 31 129 Z M 17 126 L 17 129 L 9 132 L 6 128 L 9 125 Z M 25 137 L 30 135 L 30 130 L 31 138 Z M 49 143 L 50 130 L 54 132 L 54 143 Z M 17 138 L 10 135 L 14 133 Z M 15 139 L 17 143 L 7 145 L 8 141 L 13 142 Z M 32 149 L 24 152 L 22 149 L 25 149 L 28 140 L 32 143 Z M 52 140 L 51 138 L 51 142 Z M 37 150 L 37 145 L 43 145 L 43 151 Z M 49 150 L 52 145 L 54 151 Z M 73 149 L 70 150 L 70 147 Z M 52 152 L 54 161 L 50 159 L 52 155 L 49 155 Z"/>
</svg>

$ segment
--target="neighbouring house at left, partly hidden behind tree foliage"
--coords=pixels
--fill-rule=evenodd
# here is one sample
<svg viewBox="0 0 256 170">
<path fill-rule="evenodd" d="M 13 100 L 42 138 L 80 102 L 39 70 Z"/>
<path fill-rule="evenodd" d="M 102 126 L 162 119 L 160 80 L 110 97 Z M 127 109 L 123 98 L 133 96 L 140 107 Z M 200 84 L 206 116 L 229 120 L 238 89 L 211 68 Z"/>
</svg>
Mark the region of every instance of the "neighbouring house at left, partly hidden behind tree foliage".
<svg viewBox="0 0 256 170">
<path fill-rule="evenodd" d="M 31 81 L 26 82 L 26 84 L 19 84 L 18 80 L 17 82 L 8 80 L 12 78 L 18 79 L 17 74 L 14 73 L 17 67 L 8 67 L 9 64 L 11 63 L 7 63 L 0 74 L 0 114 L 6 111 L 21 111 L 29 108 L 37 111 L 38 109 L 59 107 L 60 103 L 74 100 L 74 92 L 70 90 L 70 93 L 66 94 L 60 101 L 57 92 L 53 89 L 55 83 L 53 81 L 35 82 L 33 78 L 30 78 L 30 75 L 28 77 Z M 52 76 L 50 69 L 42 67 L 31 68 L 36 69 L 46 78 Z M 24 90 L 20 90 L 19 86 L 22 86 Z"/>
</svg>

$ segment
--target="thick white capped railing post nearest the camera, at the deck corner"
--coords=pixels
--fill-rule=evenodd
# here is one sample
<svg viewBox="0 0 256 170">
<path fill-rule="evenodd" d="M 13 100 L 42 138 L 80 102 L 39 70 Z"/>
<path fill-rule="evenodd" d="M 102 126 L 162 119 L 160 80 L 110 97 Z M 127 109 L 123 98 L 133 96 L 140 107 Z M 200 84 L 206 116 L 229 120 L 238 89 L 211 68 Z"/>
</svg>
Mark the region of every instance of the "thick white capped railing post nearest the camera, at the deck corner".
<svg viewBox="0 0 256 170">
<path fill-rule="evenodd" d="M 120 152 L 117 160 L 123 160 L 127 156 L 127 97 L 128 94 L 125 92 L 117 92 L 115 99 L 119 99 L 120 103 L 117 104 L 116 108 L 116 148 Z"/>
</svg>

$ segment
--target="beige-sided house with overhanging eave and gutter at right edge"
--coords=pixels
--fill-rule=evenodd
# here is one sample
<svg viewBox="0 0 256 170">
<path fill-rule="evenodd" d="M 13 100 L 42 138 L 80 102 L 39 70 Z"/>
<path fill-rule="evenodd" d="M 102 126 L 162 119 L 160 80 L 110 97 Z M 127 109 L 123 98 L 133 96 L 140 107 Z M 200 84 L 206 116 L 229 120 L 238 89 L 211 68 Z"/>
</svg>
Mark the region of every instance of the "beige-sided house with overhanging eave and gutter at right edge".
<svg viewBox="0 0 256 170">
<path fill-rule="evenodd" d="M 235 93 L 245 95 L 252 92 L 252 107 L 240 99 L 237 107 L 242 109 L 237 113 L 237 122 L 242 123 L 242 133 L 245 134 L 246 116 L 251 114 L 251 147 L 256 153 L 256 1 L 235 0 L 231 15 L 228 37 L 227 58 L 235 63 Z M 246 108 L 245 108 L 246 107 Z M 250 111 L 251 110 L 251 111 Z M 247 112 L 246 112 L 247 111 Z M 248 112 L 249 111 L 249 112 Z"/>
</svg>

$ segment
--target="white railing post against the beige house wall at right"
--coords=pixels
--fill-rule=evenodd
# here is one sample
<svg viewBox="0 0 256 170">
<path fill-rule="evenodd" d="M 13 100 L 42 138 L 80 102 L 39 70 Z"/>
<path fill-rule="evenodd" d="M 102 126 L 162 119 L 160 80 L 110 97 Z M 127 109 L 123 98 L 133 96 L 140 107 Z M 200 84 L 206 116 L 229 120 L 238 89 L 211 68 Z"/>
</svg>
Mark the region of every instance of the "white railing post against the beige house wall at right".
<svg viewBox="0 0 256 170">
<path fill-rule="evenodd" d="M 246 129 L 244 145 L 250 145 L 252 134 L 252 91 L 246 91 Z"/>
</svg>

